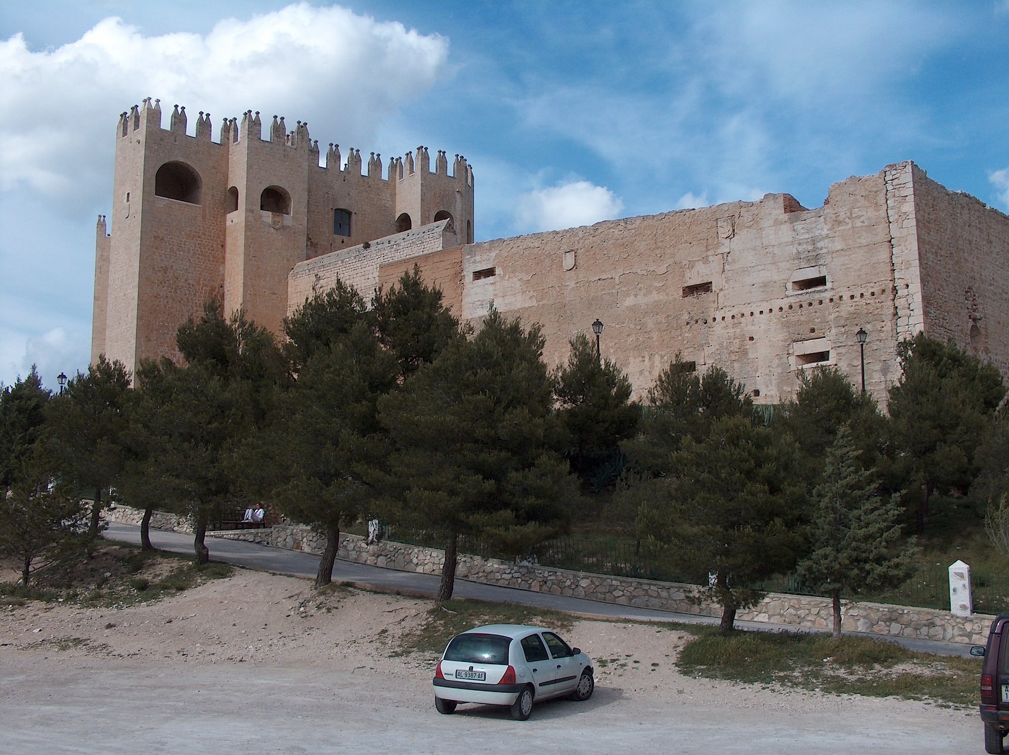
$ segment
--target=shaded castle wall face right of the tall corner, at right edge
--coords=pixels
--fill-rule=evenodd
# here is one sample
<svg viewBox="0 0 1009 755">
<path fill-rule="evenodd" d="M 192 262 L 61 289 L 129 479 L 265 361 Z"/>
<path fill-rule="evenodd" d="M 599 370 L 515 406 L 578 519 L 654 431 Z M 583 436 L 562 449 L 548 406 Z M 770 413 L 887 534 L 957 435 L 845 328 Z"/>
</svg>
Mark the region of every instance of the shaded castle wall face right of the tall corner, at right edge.
<svg viewBox="0 0 1009 755">
<path fill-rule="evenodd" d="M 914 168 L 924 330 L 1009 374 L 1009 217 Z"/>
</svg>

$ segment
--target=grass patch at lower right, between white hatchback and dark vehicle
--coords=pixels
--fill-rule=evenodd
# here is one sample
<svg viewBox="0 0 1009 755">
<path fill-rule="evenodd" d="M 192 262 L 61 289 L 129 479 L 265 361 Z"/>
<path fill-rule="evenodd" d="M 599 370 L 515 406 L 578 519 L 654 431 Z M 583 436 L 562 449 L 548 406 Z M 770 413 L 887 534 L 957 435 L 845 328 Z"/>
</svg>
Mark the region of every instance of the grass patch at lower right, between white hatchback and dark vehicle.
<svg viewBox="0 0 1009 755">
<path fill-rule="evenodd" d="M 977 704 L 981 661 L 914 653 L 863 637 L 703 630 L 680 652 L 683 673 L 837 694 Z"/>
</svg>

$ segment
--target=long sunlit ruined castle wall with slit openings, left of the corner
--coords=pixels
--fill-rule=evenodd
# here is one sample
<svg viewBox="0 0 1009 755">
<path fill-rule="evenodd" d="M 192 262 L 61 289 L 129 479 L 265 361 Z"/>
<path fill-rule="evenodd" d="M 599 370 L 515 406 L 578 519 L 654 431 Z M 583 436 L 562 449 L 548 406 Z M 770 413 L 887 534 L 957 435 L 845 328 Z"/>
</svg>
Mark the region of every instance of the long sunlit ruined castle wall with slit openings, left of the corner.
<svg viewBox="0 0 1009 755">
<path fill-rule="evenodd" d="M 882 394 L 896 374 L 882 175 L 834 184 L 814 210 L 768 195 L 472 244 L 463 280 L 464 318 L 493 302 L 541 323 L 551 363 L 599 318 L 603 356 L 639 396 L 677 352 L 722 366 L 758 403 L 791 396 L 802 365 L 836 364 L 858 382 L 860 327 L 869 389 Z"/>
</svg>

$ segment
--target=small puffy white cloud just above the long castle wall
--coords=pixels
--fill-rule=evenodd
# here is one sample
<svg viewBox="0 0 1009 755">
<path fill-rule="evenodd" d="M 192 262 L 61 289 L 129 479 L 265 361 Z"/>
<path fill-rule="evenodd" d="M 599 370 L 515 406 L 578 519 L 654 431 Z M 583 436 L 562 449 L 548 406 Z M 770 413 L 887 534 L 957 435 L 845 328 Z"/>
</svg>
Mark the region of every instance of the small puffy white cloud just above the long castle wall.
<svg viewBox="0 0 1009 755">
<path fill-rule="evenodd" d="M 620 215 L 624 203 L 611 191 L 588 181 L 536 189 L 519 197 L 516 229 L 550 231 L 591 225 Z"/>
</svg>

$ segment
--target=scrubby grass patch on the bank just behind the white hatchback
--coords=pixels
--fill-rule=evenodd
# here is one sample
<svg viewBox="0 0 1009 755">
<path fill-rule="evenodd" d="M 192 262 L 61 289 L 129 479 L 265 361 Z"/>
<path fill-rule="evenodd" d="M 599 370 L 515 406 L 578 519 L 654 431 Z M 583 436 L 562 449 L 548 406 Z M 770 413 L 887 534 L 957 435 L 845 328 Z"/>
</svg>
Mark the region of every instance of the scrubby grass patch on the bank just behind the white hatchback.
<svg viewBox="0 0 1009 755">
<path fill-rule="evenodd" d="M 484 624 L 531 624 L 565 633 L 571 631 L 574 621 L 575 617 L 570 614 L 511 603 L 449 601 L 429 610 L 421 625 L 403 636 L 394 655 L 440 655 L 455 635 Z"/>
</svg>

